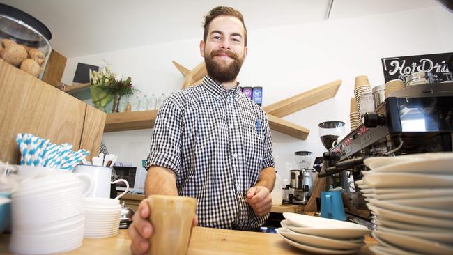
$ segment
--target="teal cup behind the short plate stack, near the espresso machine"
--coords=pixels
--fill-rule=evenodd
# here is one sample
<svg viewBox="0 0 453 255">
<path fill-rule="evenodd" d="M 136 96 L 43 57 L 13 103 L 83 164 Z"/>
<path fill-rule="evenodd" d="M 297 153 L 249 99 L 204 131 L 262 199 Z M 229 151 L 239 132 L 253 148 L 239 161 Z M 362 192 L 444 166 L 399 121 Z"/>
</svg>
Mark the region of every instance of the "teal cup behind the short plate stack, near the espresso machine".
<svg viewBox="0 0 453 255">
<path fill-rule="evenodd" d="M 321 192 L 321 217 L 346 220 L 341 192 Z"/>
</svg>

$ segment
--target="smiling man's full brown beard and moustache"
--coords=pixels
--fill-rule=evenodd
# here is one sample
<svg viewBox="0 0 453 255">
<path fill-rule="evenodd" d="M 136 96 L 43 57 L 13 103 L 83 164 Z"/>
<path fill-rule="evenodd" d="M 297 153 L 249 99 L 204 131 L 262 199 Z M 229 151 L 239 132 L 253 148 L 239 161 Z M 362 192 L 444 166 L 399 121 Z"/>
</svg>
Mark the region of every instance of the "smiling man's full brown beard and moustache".
<svg viewBox="0 0 453 255">
<path fill-rule="evenodd" d="M 233 59 L 233 62 L 227 65 L 218 63 L 213 58 L 220 54 L 227 54 L 227 56 Z M 211 52 L 210 54 L 205 54 L 204 62 L 206 63 L 206 70 L 208 71 L 209 77 L 215 79 L 215 81 L 219 83 L 223 83 L 232 82 L 236 79 L 236 77 L 238 77 L 244 59 L 239 59 L 238 55 L 233 52 L 219 49 Z"/>
</svg>

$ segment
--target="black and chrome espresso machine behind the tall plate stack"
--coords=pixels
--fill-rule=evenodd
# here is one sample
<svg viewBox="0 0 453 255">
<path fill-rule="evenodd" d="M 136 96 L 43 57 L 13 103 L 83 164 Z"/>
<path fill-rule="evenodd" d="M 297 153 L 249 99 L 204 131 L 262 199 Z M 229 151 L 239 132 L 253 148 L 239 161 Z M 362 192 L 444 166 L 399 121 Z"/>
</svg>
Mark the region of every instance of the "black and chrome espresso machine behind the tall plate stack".
<svg viewBox="0 0 453 255">
<path fill-rule="evenodd" d="M 452 151 L 452 144 L 453 82 L 409 86 L 390 93 L 362 116 L 362 125 L 329 148 L 318 177 L 328 178 L 327 189 L 348 190 L 349 175 L 360 180 L 369 170 L 363 164 L 367 157 Z"/>
</svg>

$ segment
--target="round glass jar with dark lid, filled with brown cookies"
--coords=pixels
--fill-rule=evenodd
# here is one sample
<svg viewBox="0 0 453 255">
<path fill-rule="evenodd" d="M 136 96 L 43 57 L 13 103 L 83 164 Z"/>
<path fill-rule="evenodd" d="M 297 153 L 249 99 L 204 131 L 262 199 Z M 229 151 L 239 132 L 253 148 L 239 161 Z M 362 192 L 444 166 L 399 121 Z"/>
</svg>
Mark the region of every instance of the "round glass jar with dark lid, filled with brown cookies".
<svg viewBox="0 0 453 255">
<path fill-rule="evenodd" d="M 33 16 L 0 3 L 0 58 L 42 78 L 52 52 L 52 33 Z"/>
</svg>

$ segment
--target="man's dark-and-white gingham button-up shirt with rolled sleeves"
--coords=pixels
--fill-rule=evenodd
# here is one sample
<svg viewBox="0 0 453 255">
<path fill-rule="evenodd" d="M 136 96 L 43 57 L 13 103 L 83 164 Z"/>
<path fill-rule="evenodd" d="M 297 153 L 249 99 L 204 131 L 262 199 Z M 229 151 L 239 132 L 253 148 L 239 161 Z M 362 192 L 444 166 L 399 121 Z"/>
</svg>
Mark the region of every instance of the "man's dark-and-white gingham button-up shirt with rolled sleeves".
<svg viewBox="0 0 453 255">
<path fill-rule="evenodd" d="M 268 119 L 238 86 L 225 90 L 205 76 L 167 98 L 155 120 L 151 166 L 173 170 L 178 195 L 198 199 L 199 226 L 256 229 L 268 219 L 245 202 L 261 170 L 274 167 Z"/>
</svg>

